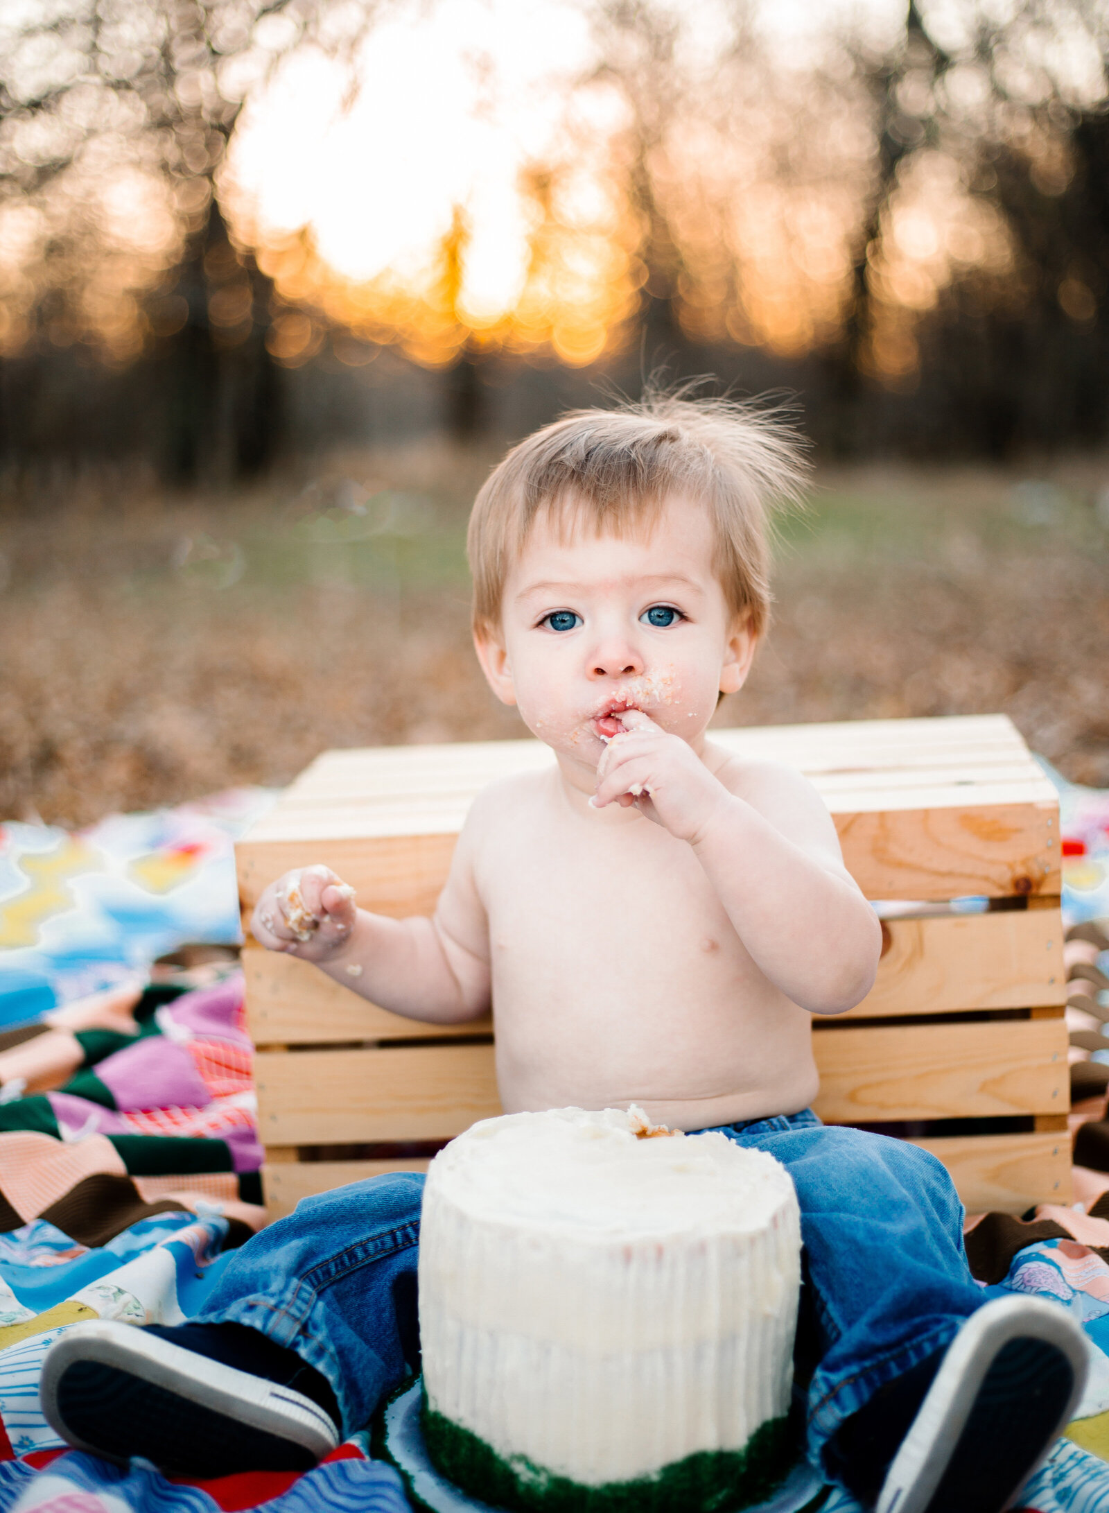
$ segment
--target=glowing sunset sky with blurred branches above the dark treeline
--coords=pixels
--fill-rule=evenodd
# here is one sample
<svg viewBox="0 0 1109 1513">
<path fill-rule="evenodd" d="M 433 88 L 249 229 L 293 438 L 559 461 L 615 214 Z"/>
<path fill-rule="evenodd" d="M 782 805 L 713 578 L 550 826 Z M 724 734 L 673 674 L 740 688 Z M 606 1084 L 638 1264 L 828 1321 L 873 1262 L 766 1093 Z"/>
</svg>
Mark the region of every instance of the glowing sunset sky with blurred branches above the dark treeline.
<svg viewBox="0 0 1109 1513">
<path fill-rule="evenodd" d="M 649 297 L 691 340 L 796 357 L 841 339 L 864 269 L 859 362 L 897 384 L 952 283 L 1021 287 L 974 177 L 989 144 L 1044 195 L 1070 182 L 1044 101 L 1098 98 L 1104 64 L 1056 9 L 1048 26 L 1050 8 L 933 0 L 949 56 L 899 64 L 884 127 L 874 70 L 902 45 L 900 0 L 12 5 L 0 353 L 126 363 L 172 336 L 197 298 L 176 269 L 215 192 L 231 244 L 204 262 L 212 339 L 262 319 L 286 366 L 328 336 L 351 365 L 393 343 L 428 366 L 581 366 L 629 340 Z M 993 73 L 983 26 L 1005 29 Z M 905 148 L 893 182 L 884 130 Z M 1079 325 L 1097 309 L 1082 269 L 1058 301 Z"/>
</svg>

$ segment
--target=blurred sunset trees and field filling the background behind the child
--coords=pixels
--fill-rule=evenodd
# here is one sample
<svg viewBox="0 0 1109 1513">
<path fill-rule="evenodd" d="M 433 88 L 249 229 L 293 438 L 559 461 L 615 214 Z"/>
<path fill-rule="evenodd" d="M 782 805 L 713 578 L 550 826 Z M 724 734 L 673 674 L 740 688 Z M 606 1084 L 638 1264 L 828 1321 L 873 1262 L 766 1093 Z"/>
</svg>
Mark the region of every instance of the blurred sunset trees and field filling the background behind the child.
<svg viewBox="0 0 1109 1513">
<path fill-rule="evenodd" d="M 817 487 L 728 723 L 1109 785 L 1109 0 L 0 9 L 0 819 L 519 734 L 492 461 L 661 369 Z"/>
</svg>

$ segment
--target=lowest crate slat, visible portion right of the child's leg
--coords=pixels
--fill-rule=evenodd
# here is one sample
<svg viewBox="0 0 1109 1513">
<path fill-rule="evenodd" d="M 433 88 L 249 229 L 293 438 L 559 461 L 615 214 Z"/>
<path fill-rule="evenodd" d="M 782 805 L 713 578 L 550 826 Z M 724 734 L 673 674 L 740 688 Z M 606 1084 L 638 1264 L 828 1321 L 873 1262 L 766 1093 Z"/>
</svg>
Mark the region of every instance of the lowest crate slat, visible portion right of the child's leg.
<svg viewBox="0 0 1109 1513">
<path fill-rule="evenodd" d="M 967 1135 L 915 1139 L 947 1167 L 968 1213 L 1023 1213 L 1071 1201 L 1071 1147 L 1062 1135 Z"/>
</svg>

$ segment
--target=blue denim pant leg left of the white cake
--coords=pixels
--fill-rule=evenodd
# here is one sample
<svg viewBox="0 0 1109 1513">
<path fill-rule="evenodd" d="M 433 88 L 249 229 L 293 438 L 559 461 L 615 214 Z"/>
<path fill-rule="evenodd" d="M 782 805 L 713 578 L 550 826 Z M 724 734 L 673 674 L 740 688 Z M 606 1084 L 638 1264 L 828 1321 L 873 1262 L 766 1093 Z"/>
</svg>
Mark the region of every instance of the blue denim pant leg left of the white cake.
<svg viewBox="0 0 1109 1513">
<path fill-rule="evenodd" d="M 424 1177 L 393 1173 L 301 1198 L 236 1250 L 195 1322 L 248 1324 L 331 1383 L 343 1433 L 419 1369 Z"/>
</svg>

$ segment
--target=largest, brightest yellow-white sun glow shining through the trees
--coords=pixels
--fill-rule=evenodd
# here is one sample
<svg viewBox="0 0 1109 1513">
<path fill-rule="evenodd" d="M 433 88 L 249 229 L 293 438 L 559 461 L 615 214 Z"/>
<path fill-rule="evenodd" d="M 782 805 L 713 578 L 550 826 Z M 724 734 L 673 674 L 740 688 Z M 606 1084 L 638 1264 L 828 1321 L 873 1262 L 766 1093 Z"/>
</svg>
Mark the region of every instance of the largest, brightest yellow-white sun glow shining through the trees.
<svg viewBox="0 0 1109 1513">
<path fill-rule="evenodd" d="M 582 83 L 595 68 L 567 0 L 413 5 L 353 65 L 304 48 L 236 132 L 219 179 L 235 236 L 281 300 L 421 362 L 468 339 L 589 362 L 635 280 L 613 171 L 626 107 Z M 286 331 L 297 360 L 310 343 L 292 353 Z"/>
</svg>

